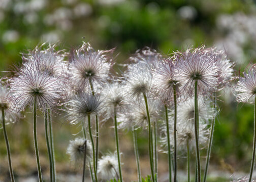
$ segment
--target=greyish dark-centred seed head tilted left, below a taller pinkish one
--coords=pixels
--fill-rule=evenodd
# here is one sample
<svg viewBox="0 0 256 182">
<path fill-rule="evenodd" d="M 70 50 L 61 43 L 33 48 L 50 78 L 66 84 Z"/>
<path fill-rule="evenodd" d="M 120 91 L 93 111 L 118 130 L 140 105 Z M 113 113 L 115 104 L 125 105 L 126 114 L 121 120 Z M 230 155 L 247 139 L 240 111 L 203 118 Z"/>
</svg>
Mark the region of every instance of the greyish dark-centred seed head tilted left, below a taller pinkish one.
<svg viewBox="0 0 256 182">
<path fill-rule="evenodd" d="M 71 124 L 84 121 L 89 114 L 97 115 L 102 111 L 101 99 L 99 95 L 93 96 L 88 93 L 80 93 L 67 102 L 66 111 Z"/>
</svg>

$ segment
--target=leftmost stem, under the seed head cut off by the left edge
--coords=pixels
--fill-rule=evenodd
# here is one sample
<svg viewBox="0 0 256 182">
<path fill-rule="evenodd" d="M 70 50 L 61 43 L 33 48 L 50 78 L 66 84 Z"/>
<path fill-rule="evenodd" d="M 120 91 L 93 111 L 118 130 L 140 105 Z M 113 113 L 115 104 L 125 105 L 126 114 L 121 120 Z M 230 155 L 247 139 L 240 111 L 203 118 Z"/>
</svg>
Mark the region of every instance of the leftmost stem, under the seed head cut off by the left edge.
<svg viewBox="0 0 256 182">
<path fill-rule="evenodd" d="M 12 169 L 11 151 L 10 151 L 8 136 L 7 136 L 6 127 L 5 127 L 5 109 L 4 108 L 2 108 L 2 119 L 3 119 L 3 132 L 4 132 L 5 142 L 6 142 L 6 150 L 7 150 L 8 164 L 9 164 L 9 172 L 10 172 L 11 181 L 14 182 L 15 180 L 14 180 L 13 169 Z"/>
</svg>

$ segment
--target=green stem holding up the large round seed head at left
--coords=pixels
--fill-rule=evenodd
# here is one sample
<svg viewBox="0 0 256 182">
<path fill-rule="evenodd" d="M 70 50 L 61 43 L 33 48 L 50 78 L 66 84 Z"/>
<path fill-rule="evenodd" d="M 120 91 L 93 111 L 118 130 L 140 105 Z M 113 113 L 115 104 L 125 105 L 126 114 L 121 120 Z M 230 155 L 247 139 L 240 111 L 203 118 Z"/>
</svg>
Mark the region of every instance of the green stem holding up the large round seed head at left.
<svg viewBox="0 0 256 182">
<path fill-rule="evenodd" d="M 38 152 L 38 141 L 37 141 L 37 97 L 34 97 L 34 144 L 35 144 L 35 152 L 37 158 L 37 168 L 38 168 L 38 178 L 40 182 L 43 182 L 41 165 L 39 160 L 39 152 Z"/>
</svg>

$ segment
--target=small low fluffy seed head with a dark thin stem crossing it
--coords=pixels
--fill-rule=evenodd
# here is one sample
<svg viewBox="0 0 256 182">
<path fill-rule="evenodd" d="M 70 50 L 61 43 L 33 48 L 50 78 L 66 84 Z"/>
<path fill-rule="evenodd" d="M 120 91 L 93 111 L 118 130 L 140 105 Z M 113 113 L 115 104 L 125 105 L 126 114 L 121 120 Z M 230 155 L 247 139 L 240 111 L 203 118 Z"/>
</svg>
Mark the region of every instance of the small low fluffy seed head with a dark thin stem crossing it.
<svg viewBox="0 0 256 182">
<path fill-rule="evenodd" d="M 74 161 L 76 164 L 83 161 L 84 155 L 86 155 L 86 161 L 90 162 L 92 158 L 92 147 L 90 141 L 82 138 L 71 140 L 67 149 L 67 154 L 70 155 L 70 160 Z"/>
</svg>

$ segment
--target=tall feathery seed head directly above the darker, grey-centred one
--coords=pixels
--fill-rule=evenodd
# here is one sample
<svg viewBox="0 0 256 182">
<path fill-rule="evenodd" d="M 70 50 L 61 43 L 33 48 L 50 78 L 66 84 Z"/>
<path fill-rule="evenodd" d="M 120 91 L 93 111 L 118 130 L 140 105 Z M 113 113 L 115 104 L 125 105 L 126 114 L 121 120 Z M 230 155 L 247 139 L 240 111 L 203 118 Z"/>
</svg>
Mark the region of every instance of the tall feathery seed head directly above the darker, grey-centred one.
<svg viewBox="0 0 256 182">
<path fill-rule="evenodd" d="M 73 86 L 83 90 L 106 82 L 112 66 L 107 54 L 112 52 L 113 50 L 94 51 L 89 43 L 84 42 L 82 47 L 76 50 L 77 54 L 70 63 L 70 79 Z"/>
</svg>

